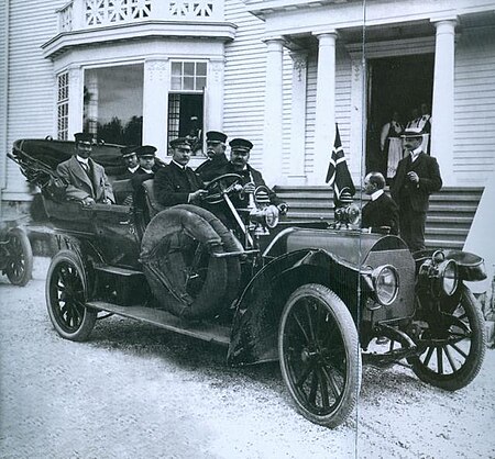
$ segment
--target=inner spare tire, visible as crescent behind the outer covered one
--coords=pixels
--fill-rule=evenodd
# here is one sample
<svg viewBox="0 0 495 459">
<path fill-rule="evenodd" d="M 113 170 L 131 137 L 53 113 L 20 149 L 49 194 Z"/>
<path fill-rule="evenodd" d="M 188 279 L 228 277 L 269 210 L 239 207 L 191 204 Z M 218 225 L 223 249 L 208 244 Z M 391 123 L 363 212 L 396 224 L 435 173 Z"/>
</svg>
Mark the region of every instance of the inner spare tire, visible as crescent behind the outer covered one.
<svg viewBox="0 0 495 459">
<path fill-rule="evenodd" d="M 205 219 L 220 236 L 223 251 L 241 251 L 244 248 L 239 239 L 227 228 L 227 226 L 210 211 L 191 204 L 178 204 L 175 209 L 184 209 Z M 223 303 L 230 304 L 237 296 L 241 281 L 241 262 L 239 257 L 227 258 L 227 290 Z"/>
</svg>

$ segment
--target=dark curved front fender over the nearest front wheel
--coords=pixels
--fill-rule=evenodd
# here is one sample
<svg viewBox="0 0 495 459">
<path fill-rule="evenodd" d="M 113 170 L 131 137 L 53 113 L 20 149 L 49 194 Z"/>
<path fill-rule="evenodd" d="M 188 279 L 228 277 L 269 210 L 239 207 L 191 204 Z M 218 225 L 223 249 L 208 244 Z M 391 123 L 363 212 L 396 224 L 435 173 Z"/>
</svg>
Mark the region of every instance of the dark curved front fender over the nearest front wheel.
<svg viewBox="0 0 495 459">
<path fill-rule="evenodd" d="M 359 279 L 358 266 L 323 249 L 300 249 L 273 259 L 256 273 L 237 302 L 228 362 L 250 365 L 278 359 L 279 317 L 290 293 L 302 284 L 329 287 L 344 301 L 355 321 Z M 371 284 L 365 281 L 361 286 L 367 296 Z"/>
</svg>

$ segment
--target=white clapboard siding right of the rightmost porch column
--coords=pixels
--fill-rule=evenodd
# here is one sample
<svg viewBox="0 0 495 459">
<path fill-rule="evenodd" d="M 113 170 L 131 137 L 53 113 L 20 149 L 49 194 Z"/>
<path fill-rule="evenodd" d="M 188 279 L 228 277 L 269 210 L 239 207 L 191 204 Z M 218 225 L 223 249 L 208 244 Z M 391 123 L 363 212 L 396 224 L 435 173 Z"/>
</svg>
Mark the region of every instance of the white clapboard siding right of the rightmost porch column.
<svg viewBox="0 0 495 459">
<path fill-rule="evenodd" d="M 468 30 L 455 47 L 453 170 L 460 181 L 476 186 L 494 173 L 494 145 L 495 31 Z"/>
</svg>

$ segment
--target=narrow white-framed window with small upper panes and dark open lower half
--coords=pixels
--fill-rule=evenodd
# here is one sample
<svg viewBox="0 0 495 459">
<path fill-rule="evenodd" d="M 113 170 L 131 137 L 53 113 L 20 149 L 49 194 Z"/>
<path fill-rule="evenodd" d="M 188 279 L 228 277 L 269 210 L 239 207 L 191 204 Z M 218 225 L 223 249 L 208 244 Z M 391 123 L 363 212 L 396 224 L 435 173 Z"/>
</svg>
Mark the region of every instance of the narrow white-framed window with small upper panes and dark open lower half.
<svg viewBox="0 0 495 459">
<path fill-rule="evenodd" d="M 173 60 L 168 93 L 168 142 L 189 137 L 194 154 L 202 149 L 206 61 Z"/>
</svg>

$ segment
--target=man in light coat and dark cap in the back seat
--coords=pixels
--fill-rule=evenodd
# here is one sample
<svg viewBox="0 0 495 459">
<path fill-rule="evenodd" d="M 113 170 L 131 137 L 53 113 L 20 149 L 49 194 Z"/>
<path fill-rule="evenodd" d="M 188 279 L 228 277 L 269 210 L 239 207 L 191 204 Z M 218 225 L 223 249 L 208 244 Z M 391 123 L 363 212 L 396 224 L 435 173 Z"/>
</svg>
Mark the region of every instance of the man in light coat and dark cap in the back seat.
<svg viewBox="0 0 495 459">
<path fill-rule="evenodd" d="M 67 186 L 67 199 L 84 205 L 116 202 L 105 168 L 90 158 L 92 135 L 77 133 L 74 137 L 74 156 L 57 166 L 57 173 Z"/>
</svg>

